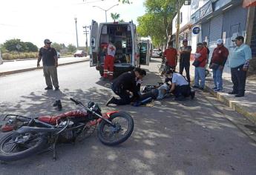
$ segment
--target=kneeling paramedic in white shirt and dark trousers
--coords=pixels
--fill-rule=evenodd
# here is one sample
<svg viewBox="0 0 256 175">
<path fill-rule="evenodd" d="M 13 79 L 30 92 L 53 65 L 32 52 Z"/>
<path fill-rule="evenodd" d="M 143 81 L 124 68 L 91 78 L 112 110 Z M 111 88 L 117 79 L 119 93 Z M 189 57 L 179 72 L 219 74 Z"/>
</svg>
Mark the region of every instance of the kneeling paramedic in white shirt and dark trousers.
<svg viewBox="0 0 256 175">
<path fill-rule="evenodd" d="M 194 90 L 191 91 L 191 87 L 187 79 L 180 73 L 176 73 L 173 70 L 168 70 L 166 73 L 168 78 L 171 79 L 171 93 L 174 94 L 175 100 L 184 100 L 186 97 L 191 96 L 191 99 L 194 99 Z"/>
</svg>

